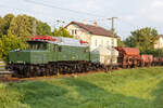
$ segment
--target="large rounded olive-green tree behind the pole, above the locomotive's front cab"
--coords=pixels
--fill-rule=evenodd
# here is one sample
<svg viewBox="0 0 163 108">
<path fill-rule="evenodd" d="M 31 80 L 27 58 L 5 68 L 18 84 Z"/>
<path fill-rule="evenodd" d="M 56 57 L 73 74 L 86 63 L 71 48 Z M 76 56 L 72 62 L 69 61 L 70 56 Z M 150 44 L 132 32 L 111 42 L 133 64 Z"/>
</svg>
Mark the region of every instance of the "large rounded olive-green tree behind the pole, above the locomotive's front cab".
<svg viewBox="0 0 163 108">
<path fill-rule="evenodd" d="M 51 28 L 47 23 L 37 21 L 35 17 L 27 15 L 17 15 L 11 22 L 8 33 L 15 35 L 26 39 L 28 36 L 33 36 L 33 22 L 36 22 L 37 35 L 51 35 Z"/>
</svg>

